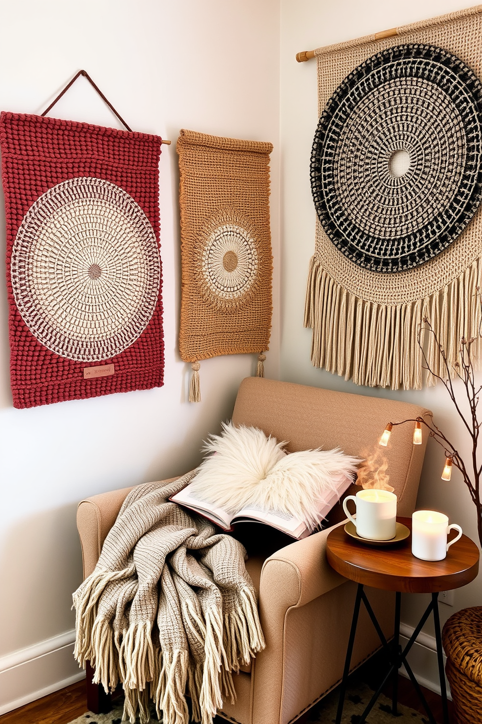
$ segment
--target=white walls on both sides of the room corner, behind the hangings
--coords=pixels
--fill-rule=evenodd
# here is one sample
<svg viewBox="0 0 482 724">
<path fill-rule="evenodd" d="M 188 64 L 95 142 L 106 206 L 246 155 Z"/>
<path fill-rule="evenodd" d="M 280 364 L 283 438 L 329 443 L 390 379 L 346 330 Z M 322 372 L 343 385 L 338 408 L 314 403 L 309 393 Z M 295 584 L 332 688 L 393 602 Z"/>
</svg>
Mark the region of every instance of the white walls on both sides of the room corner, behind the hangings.
<svg viewBox="0 0 482 724">
<path fill-rule="evenodd" d="M 160 161 L 163 388 L 14 410 L 7 299 L 0 285 L 0 713 L 75 676 L 70 605 L 81 578 L 77 502 L 194 466 L 201 440 L 230 415 L 239 381 L 254 371 L 254 356 L 206 361 L 201 369 L 204 401 L 186 402 L 189 366 L 177 353 L 179 128 L 275 143 L 271 199 L 275 319 L 267 376 L 426 405 L 465 450 L 444 390 L 371 390 L 311 366 L 311 331 L 303 328 L 303 306 L 314 248 L 308 168 L 317 124 L 316 64 L 298 64 L 295 54 L 467 5 L 467 0 L 0 0 L 1 109 L 43 111 L 83 67 L 132 128 L 174 142 L 163 147 Z M 82 78 L 53 114 L 120 127 Z M 279 178 L 283 194 L 280 367 Z M 0 218 L 2 263 L 4 245 Z M 456 473 L 450 484 L 440 481 L 442 452 L 431 442 L 418 504 L 445 510 L 476 538 L 475 509 L 468 494 Z M 442 607 L 443 620 L 452 610 L 480 600 L 481 584 L 475 581 L 455 593 L 454 609 Z M 405 601 L 405 631 L 415 625 L 421 605 L 416 597 Z M 430 643 L 432 631 L 430 627 L 426 631 Z M 423 659 L 423 649 L 418 654 Z M 425 661 L 421 667 L 426 667 Z"/>
</svg>

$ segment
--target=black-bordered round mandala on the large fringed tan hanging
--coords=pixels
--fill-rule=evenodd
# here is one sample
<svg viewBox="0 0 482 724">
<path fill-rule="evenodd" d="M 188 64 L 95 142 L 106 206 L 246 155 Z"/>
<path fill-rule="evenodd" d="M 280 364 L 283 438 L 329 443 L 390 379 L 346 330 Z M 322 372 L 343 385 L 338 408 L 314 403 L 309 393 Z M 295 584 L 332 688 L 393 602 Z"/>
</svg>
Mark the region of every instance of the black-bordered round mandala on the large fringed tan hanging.
<svg viewBox="0 0 482 724">
<path fill-rule="evenodd" d="M 481 109 L 480 81 L 441 48 L 395 46 L 353 70 L 311 152 L 314 204 L 332 243 L 382 272 L 447 248 L 481 201 Z"/>
</svg>

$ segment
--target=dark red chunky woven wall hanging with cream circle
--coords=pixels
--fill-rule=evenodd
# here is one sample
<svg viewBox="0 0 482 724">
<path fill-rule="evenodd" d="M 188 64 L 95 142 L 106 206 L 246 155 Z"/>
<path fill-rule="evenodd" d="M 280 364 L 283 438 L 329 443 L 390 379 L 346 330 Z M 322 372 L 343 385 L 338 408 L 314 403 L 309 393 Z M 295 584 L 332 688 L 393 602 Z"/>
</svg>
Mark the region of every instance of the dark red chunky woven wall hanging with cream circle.
<svg viewBox="0 0 482 724">
<path fill-rule="evenodd" d="M 2 113 L 0 147 L 14 406 L 162 385 L 160 138 Z"/>
</svg>

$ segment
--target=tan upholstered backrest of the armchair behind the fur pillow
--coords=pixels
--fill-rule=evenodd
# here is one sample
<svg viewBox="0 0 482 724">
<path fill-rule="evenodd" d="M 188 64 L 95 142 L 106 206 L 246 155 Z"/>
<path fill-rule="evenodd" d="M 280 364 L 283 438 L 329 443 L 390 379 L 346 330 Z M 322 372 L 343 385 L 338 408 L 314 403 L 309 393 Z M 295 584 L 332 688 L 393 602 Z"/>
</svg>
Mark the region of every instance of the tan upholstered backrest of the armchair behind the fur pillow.
<svg viewBox="0 0 482 724">
<path fill-rule="evenodd" d="M 381 452 L 397 494 L 397 514 L 410 516 L 428 439 L 426 429 L 422 430 L 422 445 L 413 445 L 410 423 L 393 428 L 388 447 L 379 447 L 378 442 L 388 422 L 426 413 L 426 408 L 396 400 L 246 377 L 236 397 L 233 423 L 259 427 L 278 441 L 285 440 L 289 452 L 340 447 L 347 455 L 359 458 Z M 339 515 L 337 518 L 341 519 Z M 335 522 L 332 516 L 330 519 Z"/>
</svg>

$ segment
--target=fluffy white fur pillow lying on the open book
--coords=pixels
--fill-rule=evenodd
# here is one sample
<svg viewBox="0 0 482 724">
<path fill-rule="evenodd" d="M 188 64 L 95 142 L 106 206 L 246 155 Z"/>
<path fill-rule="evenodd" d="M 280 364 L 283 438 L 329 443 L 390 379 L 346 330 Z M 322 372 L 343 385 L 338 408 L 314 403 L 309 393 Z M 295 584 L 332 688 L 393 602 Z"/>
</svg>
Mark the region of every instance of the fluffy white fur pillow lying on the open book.
<svg viewBox="0 0 482 724">
<path fill-rule="evenodd" d="M 346 489 L 360 460 L 338 449 L 287 454 L 285 444 L 257 428 L 223 423 L 223 432 L 205 444 L 212 454 L 199 466 L 192 492 L 228 513 L 256 505 L 296 515 L 314 528 L 320 502 Z"/>
</svg>

